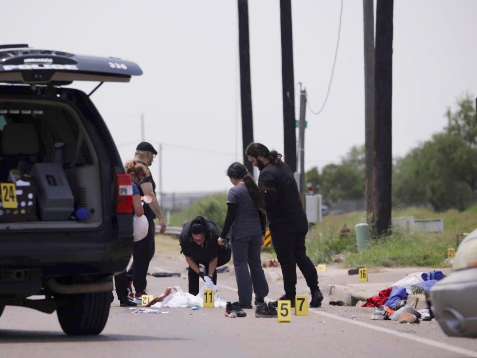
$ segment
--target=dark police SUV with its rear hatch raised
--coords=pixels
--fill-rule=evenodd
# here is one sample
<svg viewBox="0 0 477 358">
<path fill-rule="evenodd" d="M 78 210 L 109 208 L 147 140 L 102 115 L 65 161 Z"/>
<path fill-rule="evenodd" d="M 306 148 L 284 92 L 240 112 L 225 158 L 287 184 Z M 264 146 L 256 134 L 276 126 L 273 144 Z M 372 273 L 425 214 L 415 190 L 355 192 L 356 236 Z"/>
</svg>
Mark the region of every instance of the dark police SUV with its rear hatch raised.
<svg viewBox="0 0 477 358">
<path fill-rule="evenodd" d="M 132 186 L 94 90 L 64 86 L 141 74 L 118 58 L 0 46 L 0 315 L 56 310 L 67 334 L 103 330 L 131 257 Z"/>
</svg>

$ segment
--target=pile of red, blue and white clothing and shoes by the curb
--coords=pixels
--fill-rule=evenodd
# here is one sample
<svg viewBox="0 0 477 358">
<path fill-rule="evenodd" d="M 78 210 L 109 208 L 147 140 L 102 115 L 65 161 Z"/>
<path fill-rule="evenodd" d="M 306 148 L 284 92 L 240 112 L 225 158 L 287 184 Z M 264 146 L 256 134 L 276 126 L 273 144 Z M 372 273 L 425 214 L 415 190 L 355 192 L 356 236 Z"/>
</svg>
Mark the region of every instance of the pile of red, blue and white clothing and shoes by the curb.
<svg viewBox="0 0 477 358">
<path fill-rule="evenodd" d="M 414 272 L 386 288 L 378 295 L 369 297 L 361 307 L 375 307 L 371 319 L 391 319 L 401 323 L 419 323 L 419 318 L 430 320 L 429 307 L 417 310 L 414 303 L 408 302 L 408 295 L 416 288 L 422 292 L 428 292 L 430 288 L 443 279 L 442 271 Z M 417 302 L 415 302 L 417 305 Z"/>
</svg>

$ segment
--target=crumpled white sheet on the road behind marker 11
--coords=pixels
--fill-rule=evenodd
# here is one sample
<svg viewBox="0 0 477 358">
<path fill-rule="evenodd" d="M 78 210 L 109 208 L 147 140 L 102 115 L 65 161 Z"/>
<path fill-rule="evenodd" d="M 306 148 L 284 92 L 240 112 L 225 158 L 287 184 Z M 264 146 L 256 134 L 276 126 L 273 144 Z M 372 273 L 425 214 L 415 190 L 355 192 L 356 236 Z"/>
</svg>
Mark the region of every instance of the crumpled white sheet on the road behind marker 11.
<svg viewBox="0 0 477 358">
<path fill-rule="evenodd" d="M 159 298 L 162 298 L 159 302 L 155 303 L 151 307 L 157 308 L 178 308 L 178 307 L 194 307 L 204 306 L 204 289 L 213 289 L 215 292 L 214 295 L 214 306 L 215 307 L 226 307 L 227 302 L 219 297 L 217 285 L 212 282 L 209 277 L 205 277 L 205 283 L 199 291 L 197 296 L 191 295 L 188 292 L 184 292 L 179 286 L 169 287 L 164 293 L 162 293 Z"/>
</svg>

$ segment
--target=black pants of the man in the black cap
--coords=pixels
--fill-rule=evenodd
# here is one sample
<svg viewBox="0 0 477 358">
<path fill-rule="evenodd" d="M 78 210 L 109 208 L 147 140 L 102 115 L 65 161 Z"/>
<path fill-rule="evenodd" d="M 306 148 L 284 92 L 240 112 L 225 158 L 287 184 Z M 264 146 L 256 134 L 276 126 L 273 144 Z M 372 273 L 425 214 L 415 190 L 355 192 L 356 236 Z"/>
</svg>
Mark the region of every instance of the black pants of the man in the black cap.
<svg viewBox="0 0 477 358">
<path fill-rule="evenodd" d="M 128 270 L 128 280 L 133 281 L 136 292 L 144 292 L 148 285 L 149 262 L 156 252 L 154 240 L 154 222 L 149 221 L 148 235 L 141 241 L 136 241 L 133 246 L 133 263 Z"/>
</svg>

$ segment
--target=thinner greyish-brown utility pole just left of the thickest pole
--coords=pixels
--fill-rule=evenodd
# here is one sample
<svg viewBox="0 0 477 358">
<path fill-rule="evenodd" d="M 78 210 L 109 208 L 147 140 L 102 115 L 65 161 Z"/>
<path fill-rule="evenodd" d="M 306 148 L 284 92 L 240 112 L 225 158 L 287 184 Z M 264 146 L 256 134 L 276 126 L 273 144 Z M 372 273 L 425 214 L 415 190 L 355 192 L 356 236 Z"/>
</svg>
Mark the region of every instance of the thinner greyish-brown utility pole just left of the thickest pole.
<svg viewBox="0 0 477 358">
<path fill-rule="evenodd" d="M 373 219 L 373 150 L 374 150 L 374 4 L 363 0 L 364 27 L 364 117 L 366 162 L 366 217 Z"/>
</svg>

